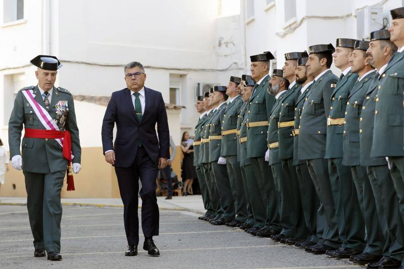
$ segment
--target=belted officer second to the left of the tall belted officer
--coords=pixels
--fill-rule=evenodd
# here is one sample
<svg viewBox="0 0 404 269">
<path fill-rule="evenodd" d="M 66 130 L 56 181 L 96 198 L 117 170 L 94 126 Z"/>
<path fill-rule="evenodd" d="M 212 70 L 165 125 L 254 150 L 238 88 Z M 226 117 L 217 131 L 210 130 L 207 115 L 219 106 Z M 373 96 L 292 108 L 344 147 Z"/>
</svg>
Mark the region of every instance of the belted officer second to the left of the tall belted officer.
<svg viewBox="0 0 404 269">
<path fill-rule="evenodd" d="M 240 163 L 237 161 L 237 116 L 243 103 L 239 89 L 241 82 L 239 77 L 230 77 L 227 85 L 226 95 L 228 105 L 224 111 L 222 121 L 222 152 L 221 156 L 226 158 L 227 174 L 229 176 L 231 192 L 234 200 L 236 218 L 233 222 L 226 223 L 226 226 L 236 227 L 247 220 L 247 199 L 244 193 L 244 185 L 240 170 Z"/>
</svg>

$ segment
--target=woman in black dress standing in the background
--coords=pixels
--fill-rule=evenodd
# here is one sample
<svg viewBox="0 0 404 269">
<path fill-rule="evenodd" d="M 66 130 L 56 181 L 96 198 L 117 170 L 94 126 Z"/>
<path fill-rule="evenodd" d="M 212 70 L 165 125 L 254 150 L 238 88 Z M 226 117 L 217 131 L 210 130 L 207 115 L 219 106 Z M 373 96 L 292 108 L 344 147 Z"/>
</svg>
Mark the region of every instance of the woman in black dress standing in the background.
<svg viewBox="0 0 404 269">
<path fill-rule="evenodd" d="M 181 139 L 181 150 L 184 153 L 182 159 L 182 179 L 184 181 L 184 191 L 186 194 L 192 193 L 193 179 L 196 178 L 195 167 L 193 166 L 193 139 L 189 138 L 189 133 L 184 132 Z"/>
</svg>

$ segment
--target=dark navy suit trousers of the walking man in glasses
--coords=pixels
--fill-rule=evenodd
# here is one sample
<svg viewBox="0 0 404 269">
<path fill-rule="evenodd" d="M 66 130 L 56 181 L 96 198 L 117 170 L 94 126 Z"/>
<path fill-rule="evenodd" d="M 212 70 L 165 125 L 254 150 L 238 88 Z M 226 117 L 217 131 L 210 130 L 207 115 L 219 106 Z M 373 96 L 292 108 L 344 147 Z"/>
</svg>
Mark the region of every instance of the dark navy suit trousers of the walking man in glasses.
<svg viewBox="0 0 404 269">
<path fill-rule="evenodd" d="M 144 147 L 138 147 L 130 167 L 115 167 L 119 192 L 124 206 L 124 225 L 128 245 L 139 243 L 139 218 L 137 216 L 139 179 L 142 184 L 141 217 L 144 237 L 159 235 L 159 206 L 156 197 L 158 166 L 151 160 Z"/>
</svg>

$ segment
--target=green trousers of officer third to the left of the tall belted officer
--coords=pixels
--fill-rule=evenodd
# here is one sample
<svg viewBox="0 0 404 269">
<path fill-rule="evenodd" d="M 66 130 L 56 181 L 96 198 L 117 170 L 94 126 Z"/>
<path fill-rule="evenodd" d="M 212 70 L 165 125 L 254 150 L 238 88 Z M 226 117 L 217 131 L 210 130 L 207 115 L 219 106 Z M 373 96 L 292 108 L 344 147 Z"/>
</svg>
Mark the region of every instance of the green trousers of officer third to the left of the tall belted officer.
<svg viewBox="0 0 404 269">
<path fill-rule="evenodd" d="M 234 220 L 234 200 L 231 194 L 229 177 L 227 175 L 226 165 L 219 165 L 217 160 L 210 163 L 211 178 L 216 182 L 220 207 L 223 210 L 222 218 L 226 220 Z"/>
</svg>

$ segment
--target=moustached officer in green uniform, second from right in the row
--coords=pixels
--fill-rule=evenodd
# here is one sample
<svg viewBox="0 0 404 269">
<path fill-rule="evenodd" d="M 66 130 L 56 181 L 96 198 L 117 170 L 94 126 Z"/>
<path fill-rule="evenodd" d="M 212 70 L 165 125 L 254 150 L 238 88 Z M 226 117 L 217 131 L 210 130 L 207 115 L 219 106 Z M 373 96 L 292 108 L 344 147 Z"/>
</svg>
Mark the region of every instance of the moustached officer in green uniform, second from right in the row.
<svg viewBox="0 0 404 269">
<path fill-rule="evenodd" d="M 398 197 L 391 179 L 390 170 L 385 157 L 370 157 L 372 148 L 373 127 L 375 117 L 375 106 L 379 78 L 382 71 L 387 66 L 391 56 L 397 50 L 397 46 L 391 42 L 388 30 L 374 31 L 370 34 L 370 43 L 367 50 L 370 64 L 378 72 L 368 83 L 368 88 L 361 109 L 361 118 L 359 121 L 360 137 L 360 161 L 361 166 L 367 167 L 367 173 L 372 186 L 372 193 L 364 192 L 364 200 L 367 196 L 374 196 L 378 223 L 381 234 L 384 237 L 383 258 L 370 253 L 362 253 L 354 258 L 354 263 L 367 264 L 370 268 L 378 268 L 380 263 L 390 262 L 396 264 L 396 260 L 402 260 L 404 256 L 404 227 L 398 209 Z M 371 198 L 370 198 L 371 199 Z M 373 225 L 376 225 L 373 220 Z M 369 233 L 372 233 L 369 230 Z"/>
</svg>

